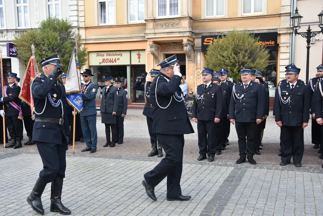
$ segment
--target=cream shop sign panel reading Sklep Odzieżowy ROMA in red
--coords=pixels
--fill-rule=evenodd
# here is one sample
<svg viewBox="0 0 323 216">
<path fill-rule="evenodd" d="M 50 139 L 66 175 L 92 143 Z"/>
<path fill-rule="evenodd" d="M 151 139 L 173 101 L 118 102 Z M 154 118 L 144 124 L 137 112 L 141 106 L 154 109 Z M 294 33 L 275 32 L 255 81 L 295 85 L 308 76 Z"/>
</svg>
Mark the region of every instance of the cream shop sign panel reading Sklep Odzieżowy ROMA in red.
<svg viewBox="0 0 323 216">
<path fill-rule="evenodd" d="M 89 65 L 130 65 L 130 51 L 89 52 Z"/>
</svg>

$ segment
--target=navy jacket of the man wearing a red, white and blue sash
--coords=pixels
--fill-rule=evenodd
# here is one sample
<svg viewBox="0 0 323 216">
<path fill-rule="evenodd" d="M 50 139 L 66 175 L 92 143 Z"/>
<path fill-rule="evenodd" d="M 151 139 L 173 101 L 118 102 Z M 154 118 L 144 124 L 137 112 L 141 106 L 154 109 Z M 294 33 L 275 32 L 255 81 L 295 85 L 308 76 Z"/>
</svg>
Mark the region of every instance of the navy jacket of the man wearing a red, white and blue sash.
<svg viewBox="0 0 323 216">
<path fill-rule="evenodd" d="M 20 105 L 20 99 L 19 99 L 20 87 L 16 84 L 13 84 L 11 87 L 8 85 L 6 93 L 7 93 L 8 97 L 3 98 L 3 103 L 5 106 L 5 115 L 6 116 L 18 116 L 19 111 L 16 110 L 16 108 L 14 108 L 13 106 L 11 106 L 9 104 L 9 102 L 13 101 L 18 106 Z"/>
</svg>

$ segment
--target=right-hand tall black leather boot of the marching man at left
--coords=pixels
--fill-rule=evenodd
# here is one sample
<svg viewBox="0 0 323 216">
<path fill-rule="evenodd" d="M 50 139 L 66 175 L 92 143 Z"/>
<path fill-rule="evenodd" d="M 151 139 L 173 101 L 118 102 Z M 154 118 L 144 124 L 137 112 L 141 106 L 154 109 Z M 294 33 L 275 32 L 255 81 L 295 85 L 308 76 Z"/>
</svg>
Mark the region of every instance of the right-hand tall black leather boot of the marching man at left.
<svg viewBox="0 0 323 216">
<path fill-rule="evenodd" d="M 52 181 L 50 193 L 50 211 L 68 215 L 71 214 L 71 211 L 68 208 L 66 208 L 61 202 L 63 180 L 63 178 L 55 178 L 55 180 Z"/>
</svg>

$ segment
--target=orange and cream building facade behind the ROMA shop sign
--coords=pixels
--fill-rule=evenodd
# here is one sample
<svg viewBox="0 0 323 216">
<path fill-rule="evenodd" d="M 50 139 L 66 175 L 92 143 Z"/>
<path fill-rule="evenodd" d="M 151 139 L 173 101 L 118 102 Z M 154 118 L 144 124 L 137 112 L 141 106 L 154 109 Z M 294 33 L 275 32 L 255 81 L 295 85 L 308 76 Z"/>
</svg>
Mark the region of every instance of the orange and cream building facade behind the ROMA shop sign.
<svg viewBox="0 0 323 216">
<path fill-rule="evenodd" d="M 131 103 L 141 73 L 176 54 L 188 91 L 202 83 L 207 46 L 217 35 L 247 29 L 270 52 L 266 78 L 271 96 L 290 62 L 291 0 L 79 0 L 79 31 L 88 47 L 94 81 L 119 76 Z M 83 11 L 84 10 L 84 11 Z M 149 79 L 148 75 L 148 79 Z M 135 104 L 133 104 L 135 106 Z"/>
</svg>

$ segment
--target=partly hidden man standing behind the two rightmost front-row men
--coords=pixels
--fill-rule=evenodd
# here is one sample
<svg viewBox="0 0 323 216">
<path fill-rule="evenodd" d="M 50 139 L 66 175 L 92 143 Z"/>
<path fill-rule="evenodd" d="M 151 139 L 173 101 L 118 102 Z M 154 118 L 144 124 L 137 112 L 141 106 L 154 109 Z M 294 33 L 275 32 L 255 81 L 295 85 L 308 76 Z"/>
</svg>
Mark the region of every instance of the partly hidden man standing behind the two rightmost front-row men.
<svg viewBox="0 0 323 216">
<path fill-rule="evenodd" d="M 318 73 L 317 73 L 318 77 L 311 78 L 309 80 L 309 83 L 308 83 L 308 88 L 311 91 L 311 98 L 313 98 L 316 84 L 323 78 L 323 66 L 319 65 L 317 67 L 317 70 L 318 70 Z M 311 128 L 312 144 L 314 144 L 314 146 L 313 146 L 314 149 L 318 149 L 320 147 L 320 143 L 321 143 L 321 127 L 315 120 L 314 104 L 311 103 L 311 105 L 313 105 L 313 106 L 311 106 L 311 114 L 312 114 L 312 126 L 311 126 L 312 127 Z"/>
</svg>

